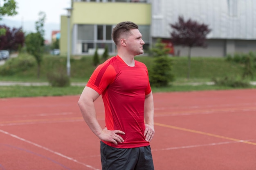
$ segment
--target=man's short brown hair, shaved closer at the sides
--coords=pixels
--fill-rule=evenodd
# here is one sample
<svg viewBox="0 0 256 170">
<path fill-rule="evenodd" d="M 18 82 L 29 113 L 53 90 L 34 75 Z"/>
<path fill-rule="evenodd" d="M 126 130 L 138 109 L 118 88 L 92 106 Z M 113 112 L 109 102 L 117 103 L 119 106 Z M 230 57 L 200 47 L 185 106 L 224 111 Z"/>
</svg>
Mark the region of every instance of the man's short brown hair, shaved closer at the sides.
<svg viewBox="0 0 256 170">
<path fill-rule="evenodd" d="M 115 28 L 113 28 L 112 39 L 115 42 L 115 44 L 117 45 L 120 35 L 129 33 L 130 29 L 138 29 L 138 28 L 139 27 L 137 26 L 137 24 L 135 24 L 133 22 L 130 22 L 130 21 L 120 22 L 119 24 L 117 24 L 115 26 Z"/>
</svg>

